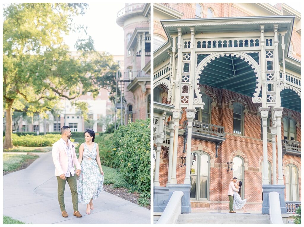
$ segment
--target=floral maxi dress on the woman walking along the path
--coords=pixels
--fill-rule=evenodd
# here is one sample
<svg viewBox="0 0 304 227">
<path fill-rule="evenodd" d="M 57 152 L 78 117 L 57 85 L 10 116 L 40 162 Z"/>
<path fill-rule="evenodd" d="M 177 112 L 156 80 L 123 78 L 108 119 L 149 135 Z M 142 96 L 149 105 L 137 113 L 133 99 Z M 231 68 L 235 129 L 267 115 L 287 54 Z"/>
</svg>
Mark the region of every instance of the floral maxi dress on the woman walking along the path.
<svg viewBox="0 0 304 227">
<path fill-rule="evenodd" d="M 103 190 L 103 175 L 100 173 L 96 162 L 96 143 L 90 151 L 84 143 L 81 173 L 78 185 L 78 203 L 88 204 L 91 199 L 97 199 Z M 91 158 L 91 160 L 90 160 Z"/>
</svg>

